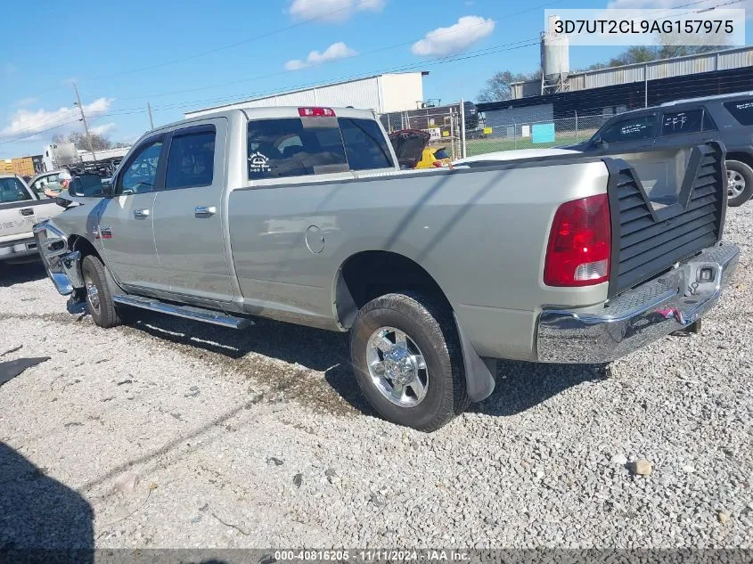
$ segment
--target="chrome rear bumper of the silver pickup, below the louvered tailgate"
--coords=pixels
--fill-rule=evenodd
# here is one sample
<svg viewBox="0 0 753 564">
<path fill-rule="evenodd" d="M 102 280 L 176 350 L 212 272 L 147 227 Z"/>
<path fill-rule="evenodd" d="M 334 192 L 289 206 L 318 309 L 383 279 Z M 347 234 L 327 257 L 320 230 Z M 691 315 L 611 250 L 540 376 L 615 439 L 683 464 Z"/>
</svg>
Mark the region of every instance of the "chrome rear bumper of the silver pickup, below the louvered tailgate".
<svg viewBox="0 0 753 564">
<path fill-rule="evenodd" d="M 608 363 L 695 323 L 716 304 L 739 255 L 735 245 L 722 243 L 603 307 L 544 308 L 537 327 L 539 362 Z M 713 279 L 699 282 L 709 270 Z"/>
</svg>

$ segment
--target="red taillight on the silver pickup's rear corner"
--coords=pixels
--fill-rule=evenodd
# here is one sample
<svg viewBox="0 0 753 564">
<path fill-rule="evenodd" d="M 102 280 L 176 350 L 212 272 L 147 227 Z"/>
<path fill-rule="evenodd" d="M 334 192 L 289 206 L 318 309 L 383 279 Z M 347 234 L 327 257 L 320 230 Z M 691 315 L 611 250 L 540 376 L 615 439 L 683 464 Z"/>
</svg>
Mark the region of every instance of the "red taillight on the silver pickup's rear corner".
<svg viewBox="0 0 753 564">
<path fill-rule="evenodd" d="M 590 286 L 608 281 L 611 239 L 607 194 L 562 204 L 549 233 L 544 284 Z"/>
</svg>

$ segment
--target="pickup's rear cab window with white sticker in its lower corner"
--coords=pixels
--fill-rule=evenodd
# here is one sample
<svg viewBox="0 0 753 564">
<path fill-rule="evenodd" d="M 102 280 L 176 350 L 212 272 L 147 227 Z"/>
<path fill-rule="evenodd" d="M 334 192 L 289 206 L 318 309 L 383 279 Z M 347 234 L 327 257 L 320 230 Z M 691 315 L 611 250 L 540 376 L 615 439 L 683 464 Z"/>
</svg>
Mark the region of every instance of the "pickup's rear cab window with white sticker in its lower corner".
<svg viewBox="0 0 753 564">
<path fill-rule="evenodd" d="M 375 119 L 336 117 L 333 114 L 250 119 L 249 179 L 393 167 L 387 138 Z"/>
</svg>

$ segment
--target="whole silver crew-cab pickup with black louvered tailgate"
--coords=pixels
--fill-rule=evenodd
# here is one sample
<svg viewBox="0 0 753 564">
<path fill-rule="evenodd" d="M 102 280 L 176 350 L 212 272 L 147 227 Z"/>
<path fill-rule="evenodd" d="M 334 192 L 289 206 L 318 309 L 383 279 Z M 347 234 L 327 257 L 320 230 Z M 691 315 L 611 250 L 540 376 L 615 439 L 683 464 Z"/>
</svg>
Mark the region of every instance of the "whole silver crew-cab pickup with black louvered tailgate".
<svg viewBox="0 0 753 564">
<path fill-rule="evenodd" d="M 724 148 L 648 152 L 411 171 L 372 111 L 225 110 L 144 135 L 35 233 L 97 325 L 136 307 L 349 331 L 374 409 L 429 431 L 491 394 L 497 358 L 609 363 L 716 303 L 739 254 Z"/>
</svg>

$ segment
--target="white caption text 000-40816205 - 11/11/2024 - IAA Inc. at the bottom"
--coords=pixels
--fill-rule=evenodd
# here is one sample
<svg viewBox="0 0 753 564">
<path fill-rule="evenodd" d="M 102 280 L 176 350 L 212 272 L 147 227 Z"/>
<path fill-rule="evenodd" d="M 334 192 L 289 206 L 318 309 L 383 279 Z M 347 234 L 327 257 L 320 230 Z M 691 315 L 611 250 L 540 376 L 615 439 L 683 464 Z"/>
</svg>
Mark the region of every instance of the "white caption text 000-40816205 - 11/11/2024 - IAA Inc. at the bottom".
<svg viewBox="0 0 753 564">
<path fill-rule="evenodd" d="M 456 550 L 289 550 L 275 551 L 274 560 L 276 561 L 334 561 L 345 562 L 352 560 L 355 562 L 374 562 L 374 561 L 419 561 L 419 562 L 463 562 L 471 560 L 468 552 Z"/>
</svg>

